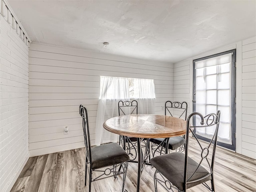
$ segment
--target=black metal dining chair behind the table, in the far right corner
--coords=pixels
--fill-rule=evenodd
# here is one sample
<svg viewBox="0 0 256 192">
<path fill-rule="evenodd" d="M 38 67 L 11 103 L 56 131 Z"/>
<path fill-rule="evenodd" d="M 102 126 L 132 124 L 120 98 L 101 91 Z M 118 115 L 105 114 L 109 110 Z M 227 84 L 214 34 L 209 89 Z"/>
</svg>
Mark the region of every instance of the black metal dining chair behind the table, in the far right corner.
<svg viewBox="0 0 256 192">
<path fill-rule="evenodd" d="M 178 118 L 187 119 L 187 110 L 188 104 L 186 102 L 165 102 L 165 115 L 173 116 L 175 113 L 178 113 Z M 185 138 L 183 137 L 171 137 L 171 138 L 150 138 L 151 142 L 151 151 L 153 157 L 156 152 L 159 152 L 160 155 L 168 153 L 168 149 L 170 150 L 178 150 L 178 152 L 183 152 L 185 150 Z M 166 142 L 168 142 L 168 149 L 165 149 Z"/>
</svg>

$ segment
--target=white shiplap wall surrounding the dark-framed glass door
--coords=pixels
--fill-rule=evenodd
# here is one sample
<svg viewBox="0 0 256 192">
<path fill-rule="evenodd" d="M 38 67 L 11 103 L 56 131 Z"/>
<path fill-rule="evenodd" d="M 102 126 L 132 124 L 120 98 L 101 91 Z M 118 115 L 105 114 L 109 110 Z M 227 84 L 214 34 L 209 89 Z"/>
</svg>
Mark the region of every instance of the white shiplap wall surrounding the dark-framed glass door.
<svg viewBox="0 0 256 192">
<path fill-rule="evenodd" d="M 236 152 L 256 159 L 256 36 L 174 64 L 174 100 L 188 100 L 192 113 L 193 60 L 235 48 Z"/>
</svg>

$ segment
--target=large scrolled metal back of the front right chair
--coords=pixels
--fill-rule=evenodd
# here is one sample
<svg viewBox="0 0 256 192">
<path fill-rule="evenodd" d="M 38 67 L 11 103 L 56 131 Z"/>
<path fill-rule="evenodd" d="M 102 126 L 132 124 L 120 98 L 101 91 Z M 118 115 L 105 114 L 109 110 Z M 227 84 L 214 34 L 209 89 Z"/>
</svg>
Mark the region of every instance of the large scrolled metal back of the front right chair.
<svg viewBox="0 0 256 192">
<path fill-rule="evenodd" d="M 192 119 L 193 116 L 199 116 L 199 118 L 200 118 L 200 125 L 196 125 L 195 122 L 194 122 L 195 126 L 192 126 L 190 124 L 190 119 Z M 196 119 L 196 118 L 194 118 L 194 119 Z M 215 160 L 215 152 L 216 152 L 216 144 L 217 144 L 218 130 L 219 130 L 219 123 L 220 123 L 220 111 L 217 111 L 216 114 L 211 113 L 211 114 L 208 114 L 206 116 L 203 116 L 202 114 L 200 114 L 198 112 L 194 112 L 194 113 L 192 113 L 192 114 L 190 114 L 188 116 L 187 130 L 186 130 L 187 134 L 186 134 L 186 150 L 185 150 L 184 184 L 192 183 L 192 182 L 190 182 L 190 179 L 197 172 L 197 170 L 198 170 L 199 166 L 202 164 L 203 160 L 206 160 L 206 162 L 207 162 L 206 163 L 207 164 L 206 169 L 208 169 L 208 171 L 209 171 L 209 174 L 204 176 L 204 178 L 206 178 L 207 176 L 209 176 L 210 174 L 213 173 L 213 170 L 214 170 L 214 160 Z M 206 129 L 207 128 L 214 128 L 214 126 L 215 126 L 215 130 L 214 130 L 214 134 L 213 134 L 212 138 L 210 139 L 210 143 L 208 143 L 207 146 L 203 148 L 202 141 L 199 140 L 196 137 L 195 129 L 196 128 L 202 128 L 202 127 L 205 127 Z M 189 151 L 188 151 L 188 148 L 189 148 L 189 145 L 188 145 L 189 136 L 188 135 L 189 134 L 188 133 L 189 132 L 191 132 L 193 134 L 193 136 L 196 138 L 196 142 L 200 146 L 200 149 L 201 149 L 201 157 L 200 158 L 201 158 L 201 160 L 198 163 L 198 167 L 194 171 L 194 173 L 192 173 L 190 178 L 187 178 L 188 153 L 189 153 Z M 212 149 L 211 149 L 212 150 L 212 155 L 210 155 L 211 154 L 211 152 L 210 152 L 210 148 L 211 147 L 212 147 Z M 211 162 L 210 162 L 210 158 L 208 158 L 208 156 L 211 157 Z M 203 179 L 203 178 L 200 178 L 200 179 Z M 204 185 L 206 186 L 206 184 L 204 184 Z M 206 187 L 209 188 L 208 186 L 206 186 Z"/>
</svg>

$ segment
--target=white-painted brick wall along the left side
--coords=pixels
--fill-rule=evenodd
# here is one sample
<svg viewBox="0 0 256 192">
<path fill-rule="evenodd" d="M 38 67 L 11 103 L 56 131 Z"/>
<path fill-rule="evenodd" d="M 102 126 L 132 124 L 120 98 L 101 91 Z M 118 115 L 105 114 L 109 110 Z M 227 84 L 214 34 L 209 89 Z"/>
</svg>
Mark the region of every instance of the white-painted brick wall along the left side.
<svg viewBox="0 0 256 192">
<path fill-rule="evenodd" d="M 0 191 L 10 191 L 29 158 L 28 47 L 0 16 Z"/>
</svg>

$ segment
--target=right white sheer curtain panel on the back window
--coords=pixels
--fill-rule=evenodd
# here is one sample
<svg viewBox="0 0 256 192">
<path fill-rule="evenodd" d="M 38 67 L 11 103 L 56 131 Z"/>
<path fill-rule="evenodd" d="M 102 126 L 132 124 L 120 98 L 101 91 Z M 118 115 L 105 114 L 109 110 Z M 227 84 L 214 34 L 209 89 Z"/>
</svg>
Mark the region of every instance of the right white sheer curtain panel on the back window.
<svg viewBox="0 0 256 192">
<path fill-rule="evenodd" d="M 153 79 L 134 79 L 134 98 L 138 102 L 138 114 L 155 113 L 155 85 Z"/>
</svg>

